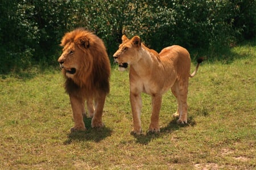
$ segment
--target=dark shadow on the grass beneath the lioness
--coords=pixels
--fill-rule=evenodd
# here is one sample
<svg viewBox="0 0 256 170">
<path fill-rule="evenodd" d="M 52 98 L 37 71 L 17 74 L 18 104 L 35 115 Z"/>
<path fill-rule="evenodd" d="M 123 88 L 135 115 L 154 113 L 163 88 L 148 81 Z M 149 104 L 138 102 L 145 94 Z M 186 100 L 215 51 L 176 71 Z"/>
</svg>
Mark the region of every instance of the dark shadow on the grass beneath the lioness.
<svg viewBox="0 0 256 170">
<path fill-rule="evenodd" d="M 193 120 L 193 117 L 188 118 L 188 124 L 177 124 L 177 119 L 173 119 L 172 121 L 169 122 L 169 124 L 164 127 L 160 128 L 159 133 L 151 133 L 148 131 L 146 134 L 141 134 L 141 135 L 136 135 L 136 134 L 131 134 L 134 136 L 134 138 L 137 139 L 137 142 L 142 144 L 142 145 L 147 145 L 152 141 L 152 139 L 155 138 L 162 138 L 164 135 L 171 134 L 173 131 L 179 130 L 180 128 L 185 128 L 187 126 L 195 126 L 196 122 Z"/>
</svg>

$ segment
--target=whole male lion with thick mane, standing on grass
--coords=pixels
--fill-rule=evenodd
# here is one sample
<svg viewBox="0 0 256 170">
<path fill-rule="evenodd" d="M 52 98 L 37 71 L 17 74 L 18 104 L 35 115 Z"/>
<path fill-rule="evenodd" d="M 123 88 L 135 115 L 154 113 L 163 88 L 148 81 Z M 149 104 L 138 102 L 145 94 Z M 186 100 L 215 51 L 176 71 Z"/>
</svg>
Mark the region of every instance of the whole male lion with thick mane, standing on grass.
<svg viewBox="0 0 256 170">
<path fill-rule="evenodd" d="M 66 79 L 65 90 L 69 94 L 75 121 L 71 131 L 86 130 L 83 121 L 85 100 L 92 127 L 104 126 L 102 112 L 109 93 L 110 76 L 104 42 L 93 33 L 77 28 L 66 33 L 60 45 L 63 53 L 58 62 Z"/>
</svg>

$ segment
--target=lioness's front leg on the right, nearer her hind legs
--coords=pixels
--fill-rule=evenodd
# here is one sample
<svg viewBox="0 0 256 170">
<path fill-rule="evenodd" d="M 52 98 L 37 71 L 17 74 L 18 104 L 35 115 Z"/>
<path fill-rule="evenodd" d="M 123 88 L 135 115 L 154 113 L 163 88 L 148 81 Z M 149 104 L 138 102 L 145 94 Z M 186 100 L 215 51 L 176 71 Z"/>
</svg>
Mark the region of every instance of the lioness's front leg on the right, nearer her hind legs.
<svg viewBox="0 0 256 170">
<path fill-rule="evenodd" d="M 162 95 L 152 95 L 152 114 L 151 114 L 151 123 L 149 126 L 149 131 L 159 132 L 159 112 L 162 104 Z"/>
</svg>

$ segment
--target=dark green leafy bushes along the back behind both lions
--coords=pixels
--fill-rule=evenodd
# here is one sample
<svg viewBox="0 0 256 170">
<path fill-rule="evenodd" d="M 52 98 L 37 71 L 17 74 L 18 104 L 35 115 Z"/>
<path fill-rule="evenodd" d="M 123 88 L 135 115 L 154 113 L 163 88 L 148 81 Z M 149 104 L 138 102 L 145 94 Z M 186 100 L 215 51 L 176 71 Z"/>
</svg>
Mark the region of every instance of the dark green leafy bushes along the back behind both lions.
<svg viewBox="0 0 256 170">
<path fill-rule="evenodd" d="M 61 37 L 76 27 L 101 37 L 109 56 L 123 33 L 158 52 L 172 44 L 214 51 L 255 38 L 254 0 L 1 0 L 0 14 L 0 73 L 56 65 Z"/>
</svg>

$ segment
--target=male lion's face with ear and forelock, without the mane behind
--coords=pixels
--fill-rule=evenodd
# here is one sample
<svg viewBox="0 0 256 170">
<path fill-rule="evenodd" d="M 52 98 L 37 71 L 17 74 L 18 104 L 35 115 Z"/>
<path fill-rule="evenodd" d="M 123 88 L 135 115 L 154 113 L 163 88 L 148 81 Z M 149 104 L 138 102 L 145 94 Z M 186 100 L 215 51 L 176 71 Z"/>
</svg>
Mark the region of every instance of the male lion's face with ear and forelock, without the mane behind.
<svg viewBox="0 0 256 170">
<path fill-rule="evenodd" d="M 80 28 L 66 33 L 61 40 L 60 45 L 63 46 L 63 53 L 59 57 L 58 62 L 63 73 L 68 78 L 74 78 L 81 69 L 85 69 L 81 67 L 90 66 L 90 62 L 92 62 L 92 57 L 90 57 L 88 52 L 90 42 L 86 34 L 88 32 Z"/>
</svg>

